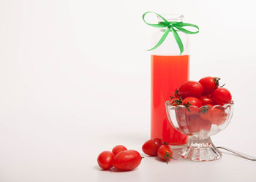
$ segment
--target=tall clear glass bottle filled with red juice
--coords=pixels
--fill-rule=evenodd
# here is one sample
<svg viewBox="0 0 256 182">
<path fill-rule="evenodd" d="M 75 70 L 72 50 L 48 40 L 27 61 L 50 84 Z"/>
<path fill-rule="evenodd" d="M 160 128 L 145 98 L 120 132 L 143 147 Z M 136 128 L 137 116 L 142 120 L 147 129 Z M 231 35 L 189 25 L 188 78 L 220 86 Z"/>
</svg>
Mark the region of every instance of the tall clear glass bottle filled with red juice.
<svg viewBox="0 0 256 182">
<path fill-rule="evenodd" d="M 183 15 L 163 15 L 168 21 L 182 21 Z M 157 17 L 159 22 L 161 18 Z M 152 47 L 162 37 L 165 28 L 153 34 Z M 180 55 L 178 44 L 170 32 L 165 41 L 151 54 L 151 138 L 161 138 L 171 146 L 182 148 L 187 143 L 187 135 L 181 134 L 168 122 L 165 101 L 178 85 L 189 79 L 189 44 L 186 33 L 178 32 L 184 44 Z"/>
</svg>

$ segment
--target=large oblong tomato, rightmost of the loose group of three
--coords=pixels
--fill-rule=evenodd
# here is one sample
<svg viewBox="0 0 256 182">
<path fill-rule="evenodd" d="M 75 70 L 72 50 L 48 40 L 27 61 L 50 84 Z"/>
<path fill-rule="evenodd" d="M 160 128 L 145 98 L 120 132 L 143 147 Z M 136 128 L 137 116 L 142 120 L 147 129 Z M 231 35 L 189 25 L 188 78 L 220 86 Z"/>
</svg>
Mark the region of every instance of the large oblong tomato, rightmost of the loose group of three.
<svg viewBox="0 0 256 182">
<path fill-rule="evenodd" d="M 140 165 L 141 156 L 138 151 L 127 150 L 119 152 L 113 159 L 113 166 L 118 170 L 133 170 Z"/>
</svg>

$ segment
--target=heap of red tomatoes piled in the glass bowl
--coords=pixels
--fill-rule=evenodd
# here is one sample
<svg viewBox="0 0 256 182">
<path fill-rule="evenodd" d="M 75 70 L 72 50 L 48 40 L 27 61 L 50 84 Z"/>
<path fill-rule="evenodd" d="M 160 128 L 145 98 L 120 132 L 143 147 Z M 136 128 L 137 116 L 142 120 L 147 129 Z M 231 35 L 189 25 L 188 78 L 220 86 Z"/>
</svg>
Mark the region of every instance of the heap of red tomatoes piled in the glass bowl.
<svg viewBox="0 0 256 182">
<path fill-rule="evenodd" d="M 219 87 L 219 78 L 211 76 L 199 82 L 182 83 L 170 97 L 173 106 L 185 106 L 176 109 L 176 118 L 181 130 L 187 129 L 190 133 L 208 131 L 211 124 L 223 124 L 227 114 L 222 106 L 231 100 L 230 92 Z"/>
</svg>

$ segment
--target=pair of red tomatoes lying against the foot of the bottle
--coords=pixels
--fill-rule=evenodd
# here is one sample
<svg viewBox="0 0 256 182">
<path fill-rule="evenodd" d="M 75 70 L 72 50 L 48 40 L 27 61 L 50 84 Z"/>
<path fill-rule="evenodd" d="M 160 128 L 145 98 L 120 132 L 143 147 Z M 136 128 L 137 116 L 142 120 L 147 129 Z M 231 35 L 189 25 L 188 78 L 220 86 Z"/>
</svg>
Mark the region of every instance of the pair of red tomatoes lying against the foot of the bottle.
<svg viewBox="0 0 256 182">
<path fill-rule="evenodd" d="M 145 154 L 148 154 L 149 156 L 157 156 L 167 163 L 173 158 L 173 151 L 170 149 L 170 146 L 159 138 L 146 141 L 142 146 L 142 150 Z"/>
</svg>

